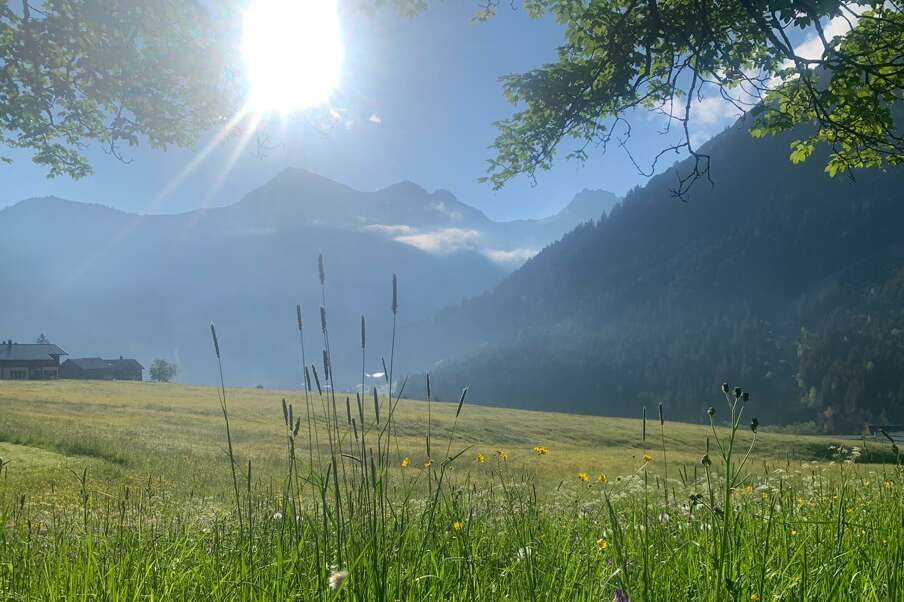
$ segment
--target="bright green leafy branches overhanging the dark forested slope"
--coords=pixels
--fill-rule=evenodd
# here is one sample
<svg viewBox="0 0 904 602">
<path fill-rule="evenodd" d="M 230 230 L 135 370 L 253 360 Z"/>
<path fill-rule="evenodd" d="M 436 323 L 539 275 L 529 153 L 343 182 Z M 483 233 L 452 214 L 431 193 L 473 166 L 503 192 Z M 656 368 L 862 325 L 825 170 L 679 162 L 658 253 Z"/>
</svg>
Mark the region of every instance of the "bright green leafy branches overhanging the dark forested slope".
<svg viewBox="0 0 904 602">
<path fill-rule="evenodd" d="M 506 0 L 505 5 L 518 4 Z M 680 141 L 662 151 L 687 151 L 695 161 L 673 193 L 709 176 L 709 157 L 689 132 L 694 99 L 720 95 L 752 109 L 756 136 L 801 124 L 791 160 L 827 144 L 826 171 L 835 175 L 904 160 L 895 104 L 904 86 L 904 15 L 898 1 L 829 0 L 522 0 L 532 16 L 553 15 L 565 28 L 558 60 L 503 78 L 519 106 L 497 123 L 495 158 L 486 178 L 499 188 L 518 174 L 548 169 L 563 141 L 567 156 L 624 145 L 636 109 L 661 111 Z M 411 0 L 410 6 L 422 6 Z M 496 14 L 483 0 L 478 19 Z M 825 24 L 843 19 L 848 33 L 831 37 Z M 815 32 L 820 57 L 795 48 L 795 31 Z M 797 38 L 799 39 L 799 35 Z M 645 171 L 641 169 L 641 171 Z"/>
</svg>

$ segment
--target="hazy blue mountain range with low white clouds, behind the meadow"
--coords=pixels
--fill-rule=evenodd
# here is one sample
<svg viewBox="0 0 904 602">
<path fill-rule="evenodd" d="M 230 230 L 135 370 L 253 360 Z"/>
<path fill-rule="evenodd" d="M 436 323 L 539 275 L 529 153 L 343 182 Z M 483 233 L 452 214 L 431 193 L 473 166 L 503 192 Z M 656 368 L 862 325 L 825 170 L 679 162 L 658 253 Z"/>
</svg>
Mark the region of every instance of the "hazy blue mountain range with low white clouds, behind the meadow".
<svg viewBox="0 0 904 602">
<path fill-rule="evenodd" d="M 446 191 L 361 192 L 300 169 L 234 205 L 178 215 L 28 199 L 0 211 L 0 329 L 26 342 L 46 333 L 72 356 L 165 358 L 183 382 L 213 382 L 213 321 L 229 382 L 297 385 L 294 305 L 316 357 L 322 253 L 335 372 L 360 374 L 360 316 L 372 341 L 389 340 L 393 273 L 402 321 L 427 319 L 617 201 L 584 191 L 552 217 L 494 222 Z"/>
</svg>

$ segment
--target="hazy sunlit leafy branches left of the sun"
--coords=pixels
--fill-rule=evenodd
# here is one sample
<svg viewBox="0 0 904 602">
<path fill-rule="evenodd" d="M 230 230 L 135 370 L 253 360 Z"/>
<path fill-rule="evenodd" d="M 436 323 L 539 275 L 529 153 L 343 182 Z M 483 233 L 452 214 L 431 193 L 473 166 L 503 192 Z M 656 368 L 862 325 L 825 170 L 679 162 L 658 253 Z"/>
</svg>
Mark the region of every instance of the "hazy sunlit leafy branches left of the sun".
<svg viewBox="0 0 904 602">
<path fill-rule="evenodd" d="M 0 4 L 0 145 L 74 178 L 91 173 L 90 143 L 124 161 L 141 141 L 190 145 L 234 110 L 230 4 Z"/>
</svg>

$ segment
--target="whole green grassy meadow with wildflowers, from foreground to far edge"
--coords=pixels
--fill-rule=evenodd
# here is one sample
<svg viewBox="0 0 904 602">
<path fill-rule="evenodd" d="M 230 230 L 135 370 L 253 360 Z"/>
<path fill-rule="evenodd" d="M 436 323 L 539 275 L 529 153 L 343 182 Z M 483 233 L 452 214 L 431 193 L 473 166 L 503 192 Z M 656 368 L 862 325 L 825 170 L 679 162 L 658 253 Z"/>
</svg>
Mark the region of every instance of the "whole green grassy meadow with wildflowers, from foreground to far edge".
<svg viewBox="0 0 904 602">
<path fill-rule="evenodd" d="M 904 600 L 890 444 L 754 434 L 755 398 L 225 393 L 234 473 L 216 388 L 4 382 L 0 599 Z"/>
</svg>

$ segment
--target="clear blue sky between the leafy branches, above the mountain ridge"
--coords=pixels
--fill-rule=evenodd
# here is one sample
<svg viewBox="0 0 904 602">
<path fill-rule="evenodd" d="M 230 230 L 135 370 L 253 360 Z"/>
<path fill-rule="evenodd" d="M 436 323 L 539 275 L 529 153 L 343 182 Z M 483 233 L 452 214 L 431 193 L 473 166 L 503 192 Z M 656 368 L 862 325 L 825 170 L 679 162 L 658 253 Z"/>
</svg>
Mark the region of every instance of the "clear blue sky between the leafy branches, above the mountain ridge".
<svg viewBox="0 0 904 602">
<path fill-rule="evenodd" d="M 500 9 L 490 22 L 472 23 L 474 6 L 434 3 L 413 19 L 390 11 L 345 15 L 345 63 L 332 100 L 341 118 L 327 131 L 295 116 L 273 127 L 275 147 L 263 156 L 251 144 L 229 168 L 236 141 L 227 140 L 182 180 L 177 177 L 194 151 L 140 148 L 124 165 L 91 149 L 96 173 L 80 181 L 48 180 L 27 154 L 4 152 L 15 162 L 0 165 L 0 207 L 57 195 L 127 211 L 173 213 L 233 203 L 279 171 L 302 167 L 361 190 L 401 180 L 444 188 L 494 219 L 514 219 L 548 215 L 583 188 L 623 194 L 642 184 L 645 178 L 616 148 L 605 156 L 591 153 L 584 164 L 563 157 L 539 174 L 536 185 L 521 177 L 494 192 L 478 182 L 491 156 L 493 121 L 514 110 L 497 78 L 553 60 L 562 38 L 553 21 L 532 20 L 523 11 Z M 698 140 L 734 120 L 721 103 L 702 108 L 694 124 Z M 632 150 L 649 158 L 674 140 L 674 134 L 659 135 L 661 127 L 652 116 L 637 115 Z"/>
</svg>

